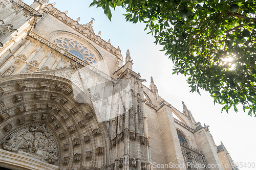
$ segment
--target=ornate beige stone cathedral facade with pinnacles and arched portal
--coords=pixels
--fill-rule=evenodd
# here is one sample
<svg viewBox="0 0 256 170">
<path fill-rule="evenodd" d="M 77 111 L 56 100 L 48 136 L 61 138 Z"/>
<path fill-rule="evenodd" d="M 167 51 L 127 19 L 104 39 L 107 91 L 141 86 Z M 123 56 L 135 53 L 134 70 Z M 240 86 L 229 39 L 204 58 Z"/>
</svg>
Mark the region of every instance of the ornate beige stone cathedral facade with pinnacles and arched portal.
<svg viewBox="0 0 256 170">
<path fill-rule="evenodd" d="M 238 169 L 127 50 L 47 0 L 0 3 L 0 168 Z"/>
</svg>

